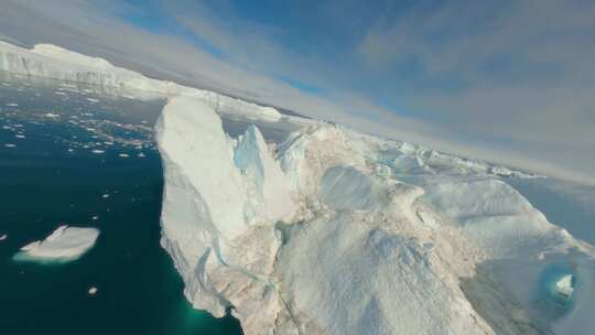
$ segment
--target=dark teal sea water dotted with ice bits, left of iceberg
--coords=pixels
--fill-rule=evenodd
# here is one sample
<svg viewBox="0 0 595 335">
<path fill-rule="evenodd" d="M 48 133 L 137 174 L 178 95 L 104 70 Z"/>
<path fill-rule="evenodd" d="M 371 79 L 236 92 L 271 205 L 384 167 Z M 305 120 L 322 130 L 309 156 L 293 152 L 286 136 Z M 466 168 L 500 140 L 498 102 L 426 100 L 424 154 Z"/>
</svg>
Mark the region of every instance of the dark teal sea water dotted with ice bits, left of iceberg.
<svg viewBox="0 0 595 335">
<path fill-rule="evenodd" d="M 0 82 L 0 334 L 241 334 L 192 309 L 159 245 L 162 101 Z M 96 246 L 64 264 L 12 260 L 63 223 L 99 228 Z"/>
</svg>

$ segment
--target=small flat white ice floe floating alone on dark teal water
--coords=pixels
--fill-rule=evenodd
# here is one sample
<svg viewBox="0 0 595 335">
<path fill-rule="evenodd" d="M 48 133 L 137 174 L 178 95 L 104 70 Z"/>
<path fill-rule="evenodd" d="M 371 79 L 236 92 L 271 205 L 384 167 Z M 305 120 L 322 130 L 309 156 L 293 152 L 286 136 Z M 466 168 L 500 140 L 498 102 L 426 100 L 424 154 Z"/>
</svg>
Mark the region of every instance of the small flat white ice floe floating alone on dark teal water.
<svg viewBox="0 0 595 335">
<path fill-rule="evenodd" d="M 99 230 L 60 226 L 43 240 L 28 244 L 15 255 L 17 260 L 32 261 L 71 261 L 79 258 L 93 248 Z"/>
</svg>

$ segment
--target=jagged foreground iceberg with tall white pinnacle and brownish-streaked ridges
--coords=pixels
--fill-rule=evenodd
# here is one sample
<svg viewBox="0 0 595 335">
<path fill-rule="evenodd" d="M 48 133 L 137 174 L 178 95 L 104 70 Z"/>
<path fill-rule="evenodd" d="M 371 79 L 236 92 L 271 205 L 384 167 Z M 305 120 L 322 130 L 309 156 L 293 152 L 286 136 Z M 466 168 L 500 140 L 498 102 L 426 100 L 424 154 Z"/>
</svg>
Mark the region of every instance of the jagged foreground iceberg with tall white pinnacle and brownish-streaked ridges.
<svg viewBox="0 0 595 335">
<path fill-rule="evenodd" d="M 246 334 L 489 332 L 458 287 L 472 248 L 418 227 L 423 191 L 371 174 L 336 128 L 281 145 L 282 172 L 256 127 L 235 142 L 208 106 L 174 98 L 158 141 L 162 244 L 195 307 L 232 307 Z"/>
</svg>

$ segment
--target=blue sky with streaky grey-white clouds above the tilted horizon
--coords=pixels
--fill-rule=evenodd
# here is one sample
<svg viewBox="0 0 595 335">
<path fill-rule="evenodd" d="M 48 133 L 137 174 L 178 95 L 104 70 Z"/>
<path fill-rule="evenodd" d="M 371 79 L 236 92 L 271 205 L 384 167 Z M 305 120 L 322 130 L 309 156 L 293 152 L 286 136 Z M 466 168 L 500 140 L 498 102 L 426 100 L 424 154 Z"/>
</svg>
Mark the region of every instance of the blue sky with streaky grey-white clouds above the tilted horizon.
<svg viewBox="0 0 595 335">
<path fill-rule="evenodd" d="M 2 0 L 0 40 L 595 184 L 592 0 Z"/>
</svg>

